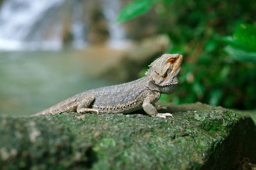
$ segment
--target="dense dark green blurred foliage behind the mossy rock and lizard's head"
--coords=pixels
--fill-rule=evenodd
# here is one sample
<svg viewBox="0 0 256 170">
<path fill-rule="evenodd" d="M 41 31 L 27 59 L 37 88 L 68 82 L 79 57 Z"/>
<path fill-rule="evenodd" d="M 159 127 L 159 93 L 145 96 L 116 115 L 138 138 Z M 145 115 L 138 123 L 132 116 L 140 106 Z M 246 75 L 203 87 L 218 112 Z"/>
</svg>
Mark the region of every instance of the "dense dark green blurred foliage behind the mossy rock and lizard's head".
<svg viewBox="0 0 256 170">
<path fill-rule="evenodd" d="M 158 32 L 165 33 L 172 41 L 172 48 L 166 52 L 184 56 L 179 86 L 168 100 L 176 104 L 200 101 L 237 109 L 256 108 L 253 95 L 256 94 L 256 32 L 254 26 L 241 24 L 255 22 L 256 3 L 251 0 L 143 3 L 148 3 L 148 10 L 154 7 Z M 124 15 L 125 8 L 120 15 Z M 138 17 L 148 10 L 130 16 Z"/>
</svg>

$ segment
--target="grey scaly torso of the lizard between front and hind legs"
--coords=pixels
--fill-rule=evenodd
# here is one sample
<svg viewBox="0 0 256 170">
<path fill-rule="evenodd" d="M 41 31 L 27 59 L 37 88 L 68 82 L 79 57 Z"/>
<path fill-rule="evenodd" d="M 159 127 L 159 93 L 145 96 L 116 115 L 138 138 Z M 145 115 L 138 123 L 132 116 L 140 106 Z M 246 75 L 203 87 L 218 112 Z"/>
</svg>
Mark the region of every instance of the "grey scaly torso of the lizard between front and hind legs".
<svg viewBox="0 0 256 170">
<path fill-rule="evenodd" d="M 145 98 L 149 91 L 146 86 L 147 79 L 146 76 L 124 84 L 84 91 L 83 94 L 95 96 L 92 109 L 97 109 L 99 112 L 131 112 L 140 109 L 143 102 L 141 99 Z"/>
</svg>

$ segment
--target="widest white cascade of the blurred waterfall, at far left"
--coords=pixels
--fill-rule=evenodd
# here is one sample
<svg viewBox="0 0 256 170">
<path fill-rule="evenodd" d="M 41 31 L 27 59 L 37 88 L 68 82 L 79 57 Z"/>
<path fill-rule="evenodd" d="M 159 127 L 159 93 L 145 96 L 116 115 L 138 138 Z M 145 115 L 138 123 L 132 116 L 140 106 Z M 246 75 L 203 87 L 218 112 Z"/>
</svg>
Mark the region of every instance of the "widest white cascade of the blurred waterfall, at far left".
<svg viewBox="0 0 256 170">
<path fill-rule="evenodd" d="M 0 49 L 59 49 L 61 47 L 60 22 L 55 24 L 49 38 L 45 39 L 45 35 L 40 32 L 44 31 L 49 24 L 47 23 L 49 18 L 45 16 L 51 14 L 61 4 L 63 0 L 4 1 L 0 10 Z M 42 25 L 43 23 L 45 26 Z M 36 33 L 35 29 L 37 29 Z"/>
</svg>

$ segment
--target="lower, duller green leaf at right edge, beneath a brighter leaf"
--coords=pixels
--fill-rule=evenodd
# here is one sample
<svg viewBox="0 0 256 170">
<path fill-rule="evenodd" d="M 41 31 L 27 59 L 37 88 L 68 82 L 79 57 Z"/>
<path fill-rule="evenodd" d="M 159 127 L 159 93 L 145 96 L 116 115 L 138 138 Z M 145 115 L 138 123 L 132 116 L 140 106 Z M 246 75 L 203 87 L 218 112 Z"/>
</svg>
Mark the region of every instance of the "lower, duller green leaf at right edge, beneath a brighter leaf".
<svg viewBox="0 0 256 170">
<path fill-rule="evenodd" d="M 238 49 L 234 46 L 228 45 L 224 50 L 232 56 L 232 58 L 237 59 L 238 61 L 245 62 L 256 62 L 256 52 L 249 52 L 243 49 Z"/>
</svg>

